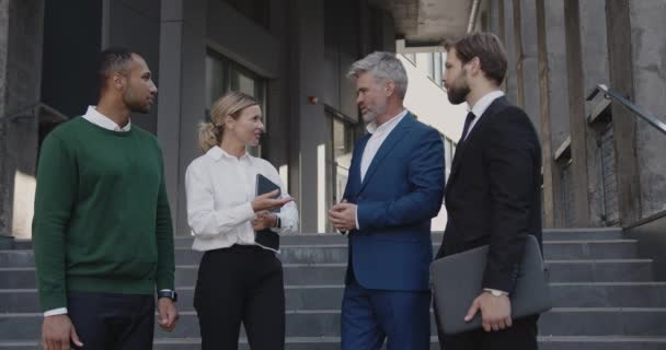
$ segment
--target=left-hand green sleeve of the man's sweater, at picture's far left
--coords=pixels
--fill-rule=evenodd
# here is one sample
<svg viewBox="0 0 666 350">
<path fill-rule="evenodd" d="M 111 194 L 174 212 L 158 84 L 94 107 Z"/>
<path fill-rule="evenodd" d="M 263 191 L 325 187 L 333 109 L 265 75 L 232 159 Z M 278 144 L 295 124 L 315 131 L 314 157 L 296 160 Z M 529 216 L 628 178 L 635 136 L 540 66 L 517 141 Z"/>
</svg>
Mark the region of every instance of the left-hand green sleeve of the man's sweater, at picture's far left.
<svg viewBox="0 0 666 350">
<path fill-rule="evenodd" d="M 77 184 L 74 155 L 62 140 L 48 136 L 39 155 L 33 218 L 33 248 L 43 311 L 67 307 L 66 236 Z"/>
</svg>

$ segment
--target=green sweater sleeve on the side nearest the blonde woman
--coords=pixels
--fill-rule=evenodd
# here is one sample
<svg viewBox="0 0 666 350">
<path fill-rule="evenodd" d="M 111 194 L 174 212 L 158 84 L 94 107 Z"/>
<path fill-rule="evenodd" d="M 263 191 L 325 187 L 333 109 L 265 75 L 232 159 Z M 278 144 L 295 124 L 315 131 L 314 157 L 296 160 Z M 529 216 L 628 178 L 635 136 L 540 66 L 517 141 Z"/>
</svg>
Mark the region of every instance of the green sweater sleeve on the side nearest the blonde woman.
<svg viewBox="0 0 666 350">
<path fill-rule="evenodd" d="M 175 258 L 173 247 L 173 224 L 171 221 L 171 209 L 169 197 L 166 196 L 166 185 L 164 182 L 164 161 L 162 151 L 159 150 L 160 158 L 160 192 L 157 203 L 156 235 L 158 243 L 158 270 L 157 290 L 174 289 Z"/>
</svg>

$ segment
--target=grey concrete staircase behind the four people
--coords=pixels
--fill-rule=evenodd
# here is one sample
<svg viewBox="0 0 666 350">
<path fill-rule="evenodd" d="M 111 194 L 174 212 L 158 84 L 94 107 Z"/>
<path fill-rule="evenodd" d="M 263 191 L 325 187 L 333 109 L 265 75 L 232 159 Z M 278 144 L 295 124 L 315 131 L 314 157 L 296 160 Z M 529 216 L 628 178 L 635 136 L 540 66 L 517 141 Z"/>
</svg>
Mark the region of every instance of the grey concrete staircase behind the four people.
<svg viewBox="0 0 666 350">
<path fill-rule="evenodd" d="M 435 248 L 441 240 L 434 234 Z M 156 349 L 199 349 L 192 299 L 200 258 L 191 240 L 176 240 L 181 320 L 156 331 Z M 340 349 L 340 306 L 346 238 L 283 238 L 287 299 L 287 349 Z M 540 349 L 666 349 L 666 282 L 653 280 L 652 260 L 619 229 L 549 230 L 544 254 L 555 308 L 541 316 Z M 0 246 L 0 349 L 36 349 L 42 314 L 30 243 Z M 433 322 L 432 349 L 437 348 Z M 241 340 L 242 349 L 249 349 Z"/>
</svg>

